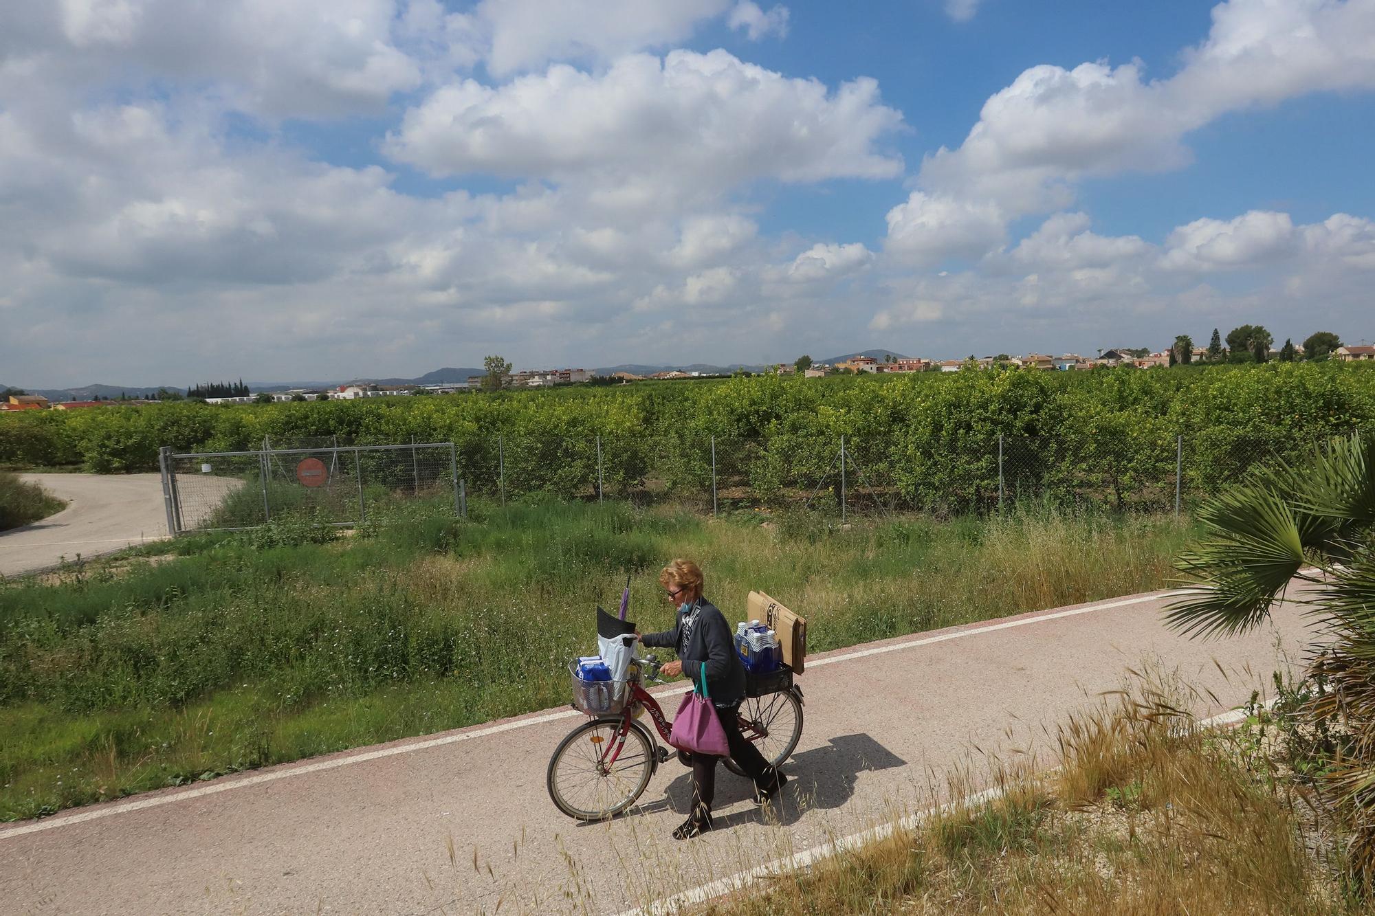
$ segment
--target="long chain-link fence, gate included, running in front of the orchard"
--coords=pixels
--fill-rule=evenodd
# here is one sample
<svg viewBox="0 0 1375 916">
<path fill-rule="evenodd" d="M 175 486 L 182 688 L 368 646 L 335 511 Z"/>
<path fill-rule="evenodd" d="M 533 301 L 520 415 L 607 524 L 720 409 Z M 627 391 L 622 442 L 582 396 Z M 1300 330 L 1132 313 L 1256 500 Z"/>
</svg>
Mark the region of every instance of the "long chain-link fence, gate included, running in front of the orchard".
<svg viewBox="0 0 1375 916">
<path fill-rule="evenodd" d="M 1111 512 L 1188 512 L 1316 439 L 1217 428 L 1130 426 L 1082 436 L 964 430 L 890 437 L 473 436 L 462 446 L 264 441 L 246 452 L 165 452 L 175 531 L 248 528 L 286 510 L 358 524 L 381 503 L 469 495 L 672 503 L 704 513 L 788 509 L 862 516 L 989 513 L 1028 501 Z"/>
</svg>

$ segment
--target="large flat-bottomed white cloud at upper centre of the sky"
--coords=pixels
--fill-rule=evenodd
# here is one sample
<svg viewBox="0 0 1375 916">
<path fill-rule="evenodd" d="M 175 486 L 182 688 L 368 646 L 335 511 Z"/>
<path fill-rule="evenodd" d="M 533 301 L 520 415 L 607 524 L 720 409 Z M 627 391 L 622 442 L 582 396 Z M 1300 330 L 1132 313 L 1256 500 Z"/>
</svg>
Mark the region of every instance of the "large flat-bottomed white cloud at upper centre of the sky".
<svg viewBox="0 0 1375 916">
<path fill-rule="evenodd" d="M 879 143 L 901 124 L 873 80 L 829 91 L 726 51 L 674 51 L 630 55 L 600 74 L 556 65 L 495 88 L 446 85 L 406 113 L 386 149 L 432 175 L 726 188 L 894 177 L 902 161 Z"/>
</svg>

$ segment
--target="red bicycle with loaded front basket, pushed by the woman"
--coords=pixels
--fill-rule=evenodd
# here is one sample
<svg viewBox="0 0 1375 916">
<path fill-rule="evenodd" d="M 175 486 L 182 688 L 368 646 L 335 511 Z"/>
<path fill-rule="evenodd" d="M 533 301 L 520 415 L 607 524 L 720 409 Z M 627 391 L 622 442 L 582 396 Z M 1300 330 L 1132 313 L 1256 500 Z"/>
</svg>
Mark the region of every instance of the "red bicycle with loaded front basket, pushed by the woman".
<svg viewBox="0 0 1375 916">
<path fill-rule="evenodd" d="M 649 655 L 630 666 L 624 681 L 582 681 L 576 662 L 569 664 L 573 677 L 573 708 L 588 715 L 569 732 L 549 759 L 544 783 L 549 796 L 564 814 L 580 821 L 601 821 L 616 817 L 634 805 L 649 780 L 667 763 L 672 751 L 660 747 L 638 715 L 648 711 L 668 745 L 672 723 L 664 718 L 659 701 L 642 686 L 668 684 L 660 679 L 659 659 Z M 595 685 L 608 685 L 605 689 Z M 740 704 L 740 732 L 755 741 L 763 758 L 778 766 L 796 750 L 802 739 L 802 688 L 789 684 L 786 689 L 770 690 L 759 696 L 745 696 Z M 726 769 L 737 776 L 744 770 L 729 756 Z"/>
</svg>

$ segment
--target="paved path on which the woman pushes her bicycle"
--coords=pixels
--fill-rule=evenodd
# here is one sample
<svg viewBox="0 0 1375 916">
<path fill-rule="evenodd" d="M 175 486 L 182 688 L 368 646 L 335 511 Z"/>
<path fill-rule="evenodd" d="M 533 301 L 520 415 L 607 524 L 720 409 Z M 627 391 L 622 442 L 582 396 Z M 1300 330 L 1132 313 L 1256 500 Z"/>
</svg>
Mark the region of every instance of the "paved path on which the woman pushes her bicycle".
<svg viewBox="0 0 1375 916">
<path fill-rule="evenodd" d="M 1196 704 L 1214 714 L 1268 681 L 1277 644 L 1305 637 L 1284 608 L 1251 637 L 1192 642 L 1160 626 L 1165 602 L 1081 605 L 808 662 L 807 725 L 777 824 L 722 772 L 723 829 L 675 843 L 690 792 L 676 762 L 632 816 L 571 821 L 544 792 L 544 767 L 580 719 L 553 710 L 0 828 L 0 901 L 40 913 L 619 912 L 924 807 L 972 745 L 1045 748 L 1045 726 L 1143 660 L 1216 690 L 1221 706 Z"/>
</svg>

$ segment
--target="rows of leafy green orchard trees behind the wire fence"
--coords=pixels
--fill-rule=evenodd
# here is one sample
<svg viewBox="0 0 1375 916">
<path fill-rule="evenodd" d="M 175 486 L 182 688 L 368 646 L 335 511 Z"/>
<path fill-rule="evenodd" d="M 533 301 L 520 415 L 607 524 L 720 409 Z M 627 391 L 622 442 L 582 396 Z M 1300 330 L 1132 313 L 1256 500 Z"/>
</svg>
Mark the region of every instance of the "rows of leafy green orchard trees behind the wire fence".
<svg viewBox="0 0 1375 916">
<path fill-rule="evenodd" d="M 1375 428 L 1375 367 L 1044 373 L 892 378 L 751 377 L 612 388 L 206 406 L 169 403 L 0 417 L 0 464 L 155 470 L 160 446 L 235 451 L 338 436 L 362 444 L 454 441 L 469 488 L 590 495 L 718 488 L 769 499 L 839 483 L 883 501 L 969 508 L 1004 490 L 1116 505 L 1206 492 L 1255 461 Z"/>
</svg>

